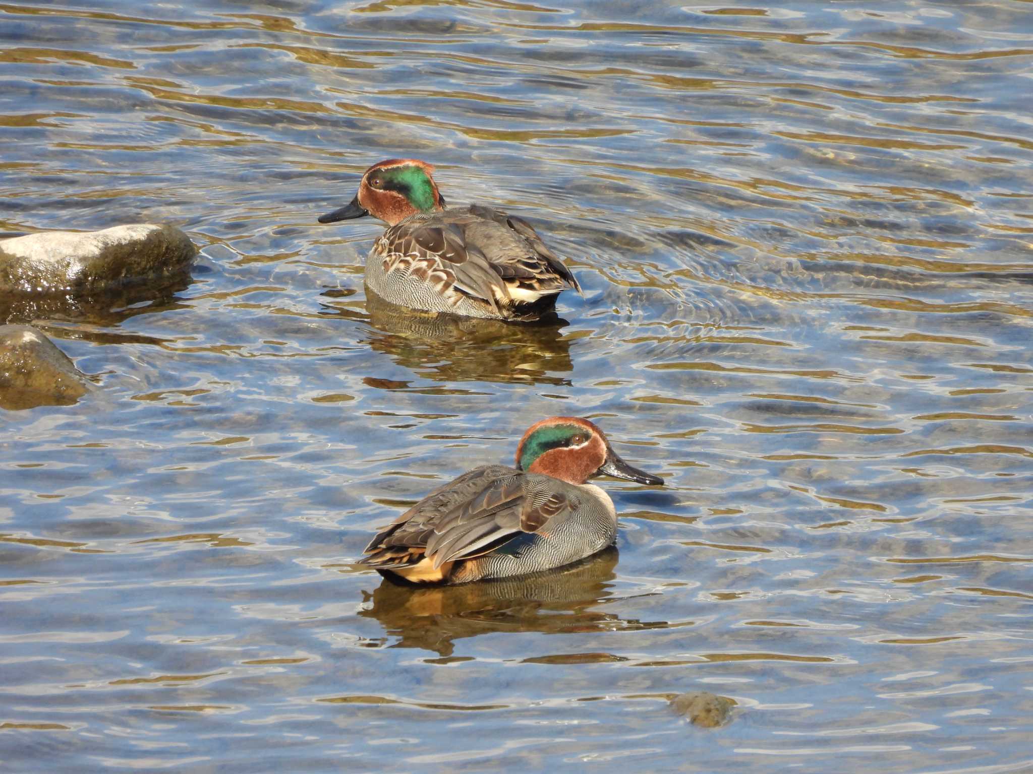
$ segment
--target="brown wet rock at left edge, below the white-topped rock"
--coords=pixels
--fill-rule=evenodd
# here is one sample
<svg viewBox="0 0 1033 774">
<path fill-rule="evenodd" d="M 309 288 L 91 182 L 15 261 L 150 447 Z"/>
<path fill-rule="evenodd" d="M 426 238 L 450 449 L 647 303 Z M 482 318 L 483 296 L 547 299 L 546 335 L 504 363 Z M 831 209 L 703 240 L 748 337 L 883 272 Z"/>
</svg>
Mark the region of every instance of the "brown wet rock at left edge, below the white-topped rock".
<svg viewBox="0 0 1033 774">
<path fill-rule="evenodd" d="M 71 406 L 93 384 L 31 325 L 0 325 L 0 409 Z"/>
</svg>

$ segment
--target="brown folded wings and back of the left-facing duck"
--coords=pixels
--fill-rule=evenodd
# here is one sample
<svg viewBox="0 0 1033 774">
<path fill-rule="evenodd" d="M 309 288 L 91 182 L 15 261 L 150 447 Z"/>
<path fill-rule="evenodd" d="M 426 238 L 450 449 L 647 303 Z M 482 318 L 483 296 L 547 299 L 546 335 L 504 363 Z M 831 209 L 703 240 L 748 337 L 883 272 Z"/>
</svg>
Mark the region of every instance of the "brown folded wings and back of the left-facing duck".
<svg viewBox="0 0 1033 774">
<path fill-rule="evenodd" d="M 374 244 L 384 271 L 402 270 L 440 295 L 499 304 L 526 303 L 581 286 L 527 221 L 473 205 L 415 215 Z M 457 296 L 458 297 L 458 296 Z"/>
</svg>

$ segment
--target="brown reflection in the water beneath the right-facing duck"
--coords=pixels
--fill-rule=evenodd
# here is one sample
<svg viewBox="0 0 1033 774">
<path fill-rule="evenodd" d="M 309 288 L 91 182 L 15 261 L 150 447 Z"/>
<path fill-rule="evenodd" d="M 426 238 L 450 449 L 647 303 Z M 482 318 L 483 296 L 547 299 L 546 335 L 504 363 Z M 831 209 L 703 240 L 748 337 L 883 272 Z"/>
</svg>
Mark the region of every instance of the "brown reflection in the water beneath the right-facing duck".
<svg viewBox="0 0 1033 774">
<path fill-rule="evenodd" d="M 613 593 L 616 565 L 617 549 L 611 547 L 566 568 L 495 581 L 425 587 L 384 578 L 375 591 L 364 592 L 373 606 L 359 615 L 376 618 L 399 638 L 390 647 L 443 656 L 464 637 L 608 630 L 617 617 L 596 606 Z"/>
</svg>

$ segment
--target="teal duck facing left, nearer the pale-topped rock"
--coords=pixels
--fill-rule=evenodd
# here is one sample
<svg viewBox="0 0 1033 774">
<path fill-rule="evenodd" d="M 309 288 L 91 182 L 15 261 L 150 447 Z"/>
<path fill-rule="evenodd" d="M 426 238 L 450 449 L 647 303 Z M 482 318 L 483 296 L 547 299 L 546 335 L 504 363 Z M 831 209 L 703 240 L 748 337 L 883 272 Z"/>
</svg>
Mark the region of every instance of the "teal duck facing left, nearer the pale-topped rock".
<svg viewBox="0 0 1033 774">
<path fill-rule="evenodd" d="M 482 204 L 446 209 L 433 172 L 418 159 L 379 161 L 350 202 L 318 219 L 387 224 L 366 259 L 376 295 L 424 312 L 529 321 L 553 312 L 564 290 L 582 293 L 530 223 Z"/>
</svg>

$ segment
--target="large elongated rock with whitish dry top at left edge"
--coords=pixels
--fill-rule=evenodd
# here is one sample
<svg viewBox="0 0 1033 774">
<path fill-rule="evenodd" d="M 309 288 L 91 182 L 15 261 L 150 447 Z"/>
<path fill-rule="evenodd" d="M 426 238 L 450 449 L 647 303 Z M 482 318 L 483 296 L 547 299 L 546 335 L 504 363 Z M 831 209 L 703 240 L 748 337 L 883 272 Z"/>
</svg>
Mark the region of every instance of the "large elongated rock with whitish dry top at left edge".
<svg viewBox="0 0 1033 774">
<path fill-rule="evenodd" d="M 49 231 L 0 240 L 0 292 L 97 293 L 182 277 L 197 249 L 176 226 Z"/>
</svg>

